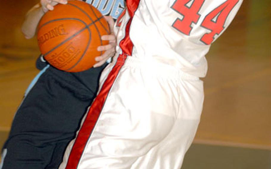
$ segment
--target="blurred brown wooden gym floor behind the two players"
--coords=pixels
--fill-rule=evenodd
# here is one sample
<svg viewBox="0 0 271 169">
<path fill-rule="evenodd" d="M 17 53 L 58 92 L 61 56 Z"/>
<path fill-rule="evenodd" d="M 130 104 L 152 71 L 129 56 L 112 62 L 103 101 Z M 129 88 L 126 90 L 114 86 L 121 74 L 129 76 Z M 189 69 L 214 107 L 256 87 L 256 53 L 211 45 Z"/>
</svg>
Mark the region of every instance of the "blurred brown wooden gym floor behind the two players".
<svg viewBox="0 0 271 169">
<path fill-rule="evenodd" d="M 38 73 L 20 26 L 38 0 L 0 1 L 0 146 Z M 245 0 L 212 45 L 201 123 L 183 168 L 271 168 L 271 1 Z"/>
</svg>

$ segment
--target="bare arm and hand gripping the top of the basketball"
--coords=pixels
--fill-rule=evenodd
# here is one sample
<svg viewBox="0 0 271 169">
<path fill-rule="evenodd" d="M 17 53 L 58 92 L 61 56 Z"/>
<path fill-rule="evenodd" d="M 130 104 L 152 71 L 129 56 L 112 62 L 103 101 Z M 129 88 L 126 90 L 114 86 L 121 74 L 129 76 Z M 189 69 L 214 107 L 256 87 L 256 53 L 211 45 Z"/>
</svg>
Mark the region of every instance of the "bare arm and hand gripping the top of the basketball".
<svg viewBox="0 0 271 169">
<path fill-rule="evenodd" d="M 58 3 L 67 4 L 67 0 L 41 0 L 40 3 L 36 4 L 27 12 L 21 28 L 25 38 L 30 39 L 35 35 L 41 17 L 48 10 L 53 10 L 54 5 Z"/>
</svg>

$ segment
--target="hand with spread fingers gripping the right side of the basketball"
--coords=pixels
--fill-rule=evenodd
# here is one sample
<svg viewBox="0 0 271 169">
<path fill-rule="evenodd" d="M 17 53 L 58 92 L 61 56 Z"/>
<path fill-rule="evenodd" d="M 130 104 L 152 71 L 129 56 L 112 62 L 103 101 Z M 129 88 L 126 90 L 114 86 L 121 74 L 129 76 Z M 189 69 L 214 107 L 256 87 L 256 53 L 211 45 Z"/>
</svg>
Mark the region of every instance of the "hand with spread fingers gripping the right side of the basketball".
<svg viewBox="0 0 271 169">
<path fill-rule="evenodd" d="M 113 31 L 115 22 L 111 16 L 104 16 L 104 17 L 109 24 L 111 33 L 110 35 L 103 35 L 102 40 L 109 40 L 109 44 L 104 45 L 104 46 L 99 46 L 97 48 L 98 51 L 105 51 L 105 53 L 95 58 L 97 63 L 93 66 L 94 68 L 103 65 L 110 57 L 113 57 L 116 52 L 116 36 Z"/>
</svg>

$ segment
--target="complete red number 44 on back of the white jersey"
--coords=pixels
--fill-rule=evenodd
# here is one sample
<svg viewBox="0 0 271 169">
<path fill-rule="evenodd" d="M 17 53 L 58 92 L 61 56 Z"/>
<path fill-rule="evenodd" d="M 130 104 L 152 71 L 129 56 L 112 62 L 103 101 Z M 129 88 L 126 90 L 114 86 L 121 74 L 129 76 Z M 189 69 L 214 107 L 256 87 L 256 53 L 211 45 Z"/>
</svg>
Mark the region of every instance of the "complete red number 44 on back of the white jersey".
<svg viewBox="0 0 271 169">
<path fill-rule="evenodd" d="M 197 24 L 201 17 L 199 11 L 204 1 L 205 0 L 176 0 L 171 8 L 182 15 L 183 18 L 177 18 L 172 26 L 183 34 L 190 35 L 193 29 L 191 26 L 192 23 Z M 224 26 L 228 15 L 238 1 L 239 0 L 226 0 L 205 16 L 201 26 L 211 32 L 204 34 L 200 41 L 206 45 L 210 45 L 214 41 L 214 36 L 219 35 L 225 29 Z"/>
</svg>

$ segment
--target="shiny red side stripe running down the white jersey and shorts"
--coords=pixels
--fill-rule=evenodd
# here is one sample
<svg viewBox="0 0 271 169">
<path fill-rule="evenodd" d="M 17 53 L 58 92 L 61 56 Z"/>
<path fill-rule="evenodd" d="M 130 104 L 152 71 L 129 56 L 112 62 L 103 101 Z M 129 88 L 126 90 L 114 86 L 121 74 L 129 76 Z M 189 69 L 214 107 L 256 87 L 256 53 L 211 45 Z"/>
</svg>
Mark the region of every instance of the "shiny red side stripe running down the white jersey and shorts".
<svg viewBox="0 0 271 169">
<path fill-rule="evenodd" d="M 75 169 L 77 168 L 79 161 L 81 159 L 82 153 L 84 151 L 85 145 L 88 142 L 89 137 L 96 125 L 96 122 L 99 118 L 99 115 L 102 111 L 102 107 L 105 103 L 105 100 L 108 96 L 108 93 L 116 80 L 117 75 L 119 74 L 120 69 L 124 65 L 124 62 L 127 58 L 127 55 L 132 54 L 133 43 L 130 40 L 129 31 L 130 25 L 133 19 L 133 15 L 138 8 L 140 0 L 127 0 L 127 9 L 131 16 L 130 20 L 128 21 L 126 28 L 125 28 L 125 37 L 120 42 L 120 47 L 122 48 L 123 54 L 118 57 L 116 65 L 113 67 L 111 72 L 109 73 L 107 79 L 105 80 L 104 84 L 102 85 L 102 89 L 99 92 L 98 96 L 94 100 L 91 108 L 87 112 L 87 116 L 85 121 L 83 122 L 80 131 L 78 132 L 77 138 L 74 142 L 72 147 L 71 153 L 69 155 L 69 159 L 66 165 L 66 169 Z"/>
</svg>

